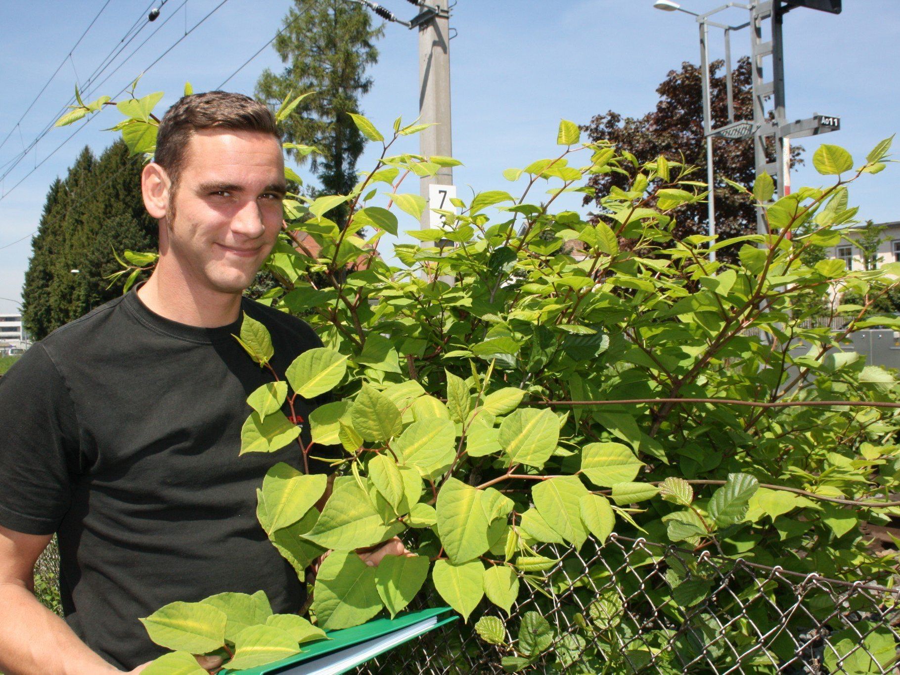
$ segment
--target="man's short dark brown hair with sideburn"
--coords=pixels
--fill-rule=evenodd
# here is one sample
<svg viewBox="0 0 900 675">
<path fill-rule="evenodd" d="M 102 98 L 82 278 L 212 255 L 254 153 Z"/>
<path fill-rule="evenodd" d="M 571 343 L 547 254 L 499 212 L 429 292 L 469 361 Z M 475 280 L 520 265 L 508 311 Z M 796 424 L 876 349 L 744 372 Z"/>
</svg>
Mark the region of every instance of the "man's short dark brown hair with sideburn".
<svg viewBox="0 0 900 675">
<path fill-rule="evenodd" d="M 266 105 L 249 96 L 221 91 L 182 96 L 159 122 L 153 158 L 166 169 L 172 181 L 172 193 L 184 166 L 187 143 L 195 131 L 203 129 L 257 131 L 281 141 L 275 115 Z"/>
</svg>

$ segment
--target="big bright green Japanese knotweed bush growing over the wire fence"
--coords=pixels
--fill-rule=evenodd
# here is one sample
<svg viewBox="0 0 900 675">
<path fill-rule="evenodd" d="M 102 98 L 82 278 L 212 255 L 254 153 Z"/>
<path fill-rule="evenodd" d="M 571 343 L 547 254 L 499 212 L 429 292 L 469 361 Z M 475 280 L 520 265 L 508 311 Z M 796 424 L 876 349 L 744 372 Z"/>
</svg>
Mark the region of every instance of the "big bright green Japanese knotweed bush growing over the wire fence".
<svg viewBox="0 0 900 675">
<path fill-rule="evenodd" d="M 152 98 L 118 104 L 135 152 L 153 148 Z M 551 551 L 596 551 L 613 531 L 846 581 L 896 572 L 896 553 L 871 550 L 857 526 L 900 515 L 889 500 L 900 491 L 900 390 L 894 373 L 845 346 L 860 329 L 900 329 L 869 311 L 897 287 L 900 264 L 804 263 L 854 231 L 848 185 L 892 161 L 891 139 L 858 164 L 823 145 L 813 165 L 832 183 L 774 202 L 769 175 L 752 189 L 722 178 L 716 189 L 757 204 L 766 228 L 718 240 L 678 234 L 680 208 L 707 195 L 692 167 L 581 142 L 563 121 L 555 157 L 508 169 L 509 189 L 454 199 L 440 229 L 418 229 L 428 204 L 402 184 L 459 162 L 391 154 L 426 125 L 398 120 L 385 138 L 354 119 L 382 145 L 373 170 L 348 194 L 291 195 L 265 267 L 279 286 L 262 302 L 302 316 L 325 347 L 254 392 L 242 435 L 242 452 L 299 442 L 285 406 L 333 396 L 308 420 L 314 443 L 343 453 L 324 509 L 313 503 L 325 482 L 304 466 L 276 464 L 259 492 L 260 523 L 298 573 L 332 552 L 312 590 L 316 626 L 394 614 L 432 590 L 466 620 L 509 614 L 520 596 L 552 594 L 583 572 Z M 559 195 L 593 195 L 586 178 L 608 172 L 628 185 L 598 213 L 554 211 Z M 341 229 L 328 215 L 345 203 Z M 387 257 L 379 246 L 397 235 L 398 211 L 415 242 Z M 863 301 L 842 304 L 847 291 Z M 246 322 L 241 339 L 266 361 L 265 330 Z M 392 536 L 412 555 L 368 567 L 354 554 Z M 683 565 L 652 562 L 668 570 L 655 592 L 677 624 L 708 588 Z M 574 592 L 590 608 L 572 616 L 581 636 L 557 640 L 539 615 L 518 633 L 479 622 L 479 634 L 508 650 L 509 670 L 550 645 L 560 667 L 600 670 L 665 643 L 651 635 L 639 643 L 651 646 L 616 653 L 598 635 L 622 630 L 609 615 L 626 596 Z M 820 595 L 810 611 L 830 620 Z M 730 630 L 754 639 L 741 626 Z"/>
</svg>

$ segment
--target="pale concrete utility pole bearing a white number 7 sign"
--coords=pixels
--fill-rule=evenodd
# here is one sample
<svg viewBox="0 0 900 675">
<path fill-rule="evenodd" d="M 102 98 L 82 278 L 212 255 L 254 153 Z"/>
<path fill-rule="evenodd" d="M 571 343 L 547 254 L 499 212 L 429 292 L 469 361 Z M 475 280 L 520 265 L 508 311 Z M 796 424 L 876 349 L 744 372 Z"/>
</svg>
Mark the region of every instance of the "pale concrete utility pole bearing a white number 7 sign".
<svg viewBox="0 0 900 675">
<path fill-rule="evenodd" d="M 430 0 L 419 6 L 422 11 L 410 22 L 411 27 L 419 28 L 419 123 L 434 123 L 419 134 L 419 154 L 453 157 L 447 0 Z M 428 202 L 428 208 L 422 214 L 422 229 L 434 227 L 430 209 L 452 209 L 449 197 L 455 196 L 450 190 L 432 188 L 432 185 L 453 185 L 453 168 L 441 166 L 436 175 L 419 179 L 420 193 Z M 436 200 L 440 202 L 432 203 Z"/>
</svg>

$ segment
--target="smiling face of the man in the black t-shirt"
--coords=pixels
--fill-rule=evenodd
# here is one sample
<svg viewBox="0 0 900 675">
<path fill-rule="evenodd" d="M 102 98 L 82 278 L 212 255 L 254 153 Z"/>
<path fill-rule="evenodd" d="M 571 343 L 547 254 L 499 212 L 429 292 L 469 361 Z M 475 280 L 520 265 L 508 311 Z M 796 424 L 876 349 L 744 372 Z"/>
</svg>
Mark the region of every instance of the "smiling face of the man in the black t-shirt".
<svg viewBox="0 0 900 675">
<path fill-rule="evenodd" d="M 174 217 L 160 232 L 184 280 L 219 293 L 246 289 L 275 246 L 285 189 L 284 158 L 275 137 L 196 132 L 171 199 Z"/>
</svg>

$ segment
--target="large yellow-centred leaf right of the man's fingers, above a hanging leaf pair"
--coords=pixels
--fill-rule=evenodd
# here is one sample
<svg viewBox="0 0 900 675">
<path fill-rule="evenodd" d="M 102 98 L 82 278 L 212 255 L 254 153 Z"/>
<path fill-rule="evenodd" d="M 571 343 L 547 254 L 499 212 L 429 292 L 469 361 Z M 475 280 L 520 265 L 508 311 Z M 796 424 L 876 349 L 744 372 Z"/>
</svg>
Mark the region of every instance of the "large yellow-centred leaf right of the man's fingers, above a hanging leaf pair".
<svg viewBox="0 0 900 675">
<path fill-rule="evenodd" d="M 437 533 L 454 564 L 465 563 L 491 547 L 494 520 L 491 493 L 448 478 L 437 493 Z"/>
</svg>

